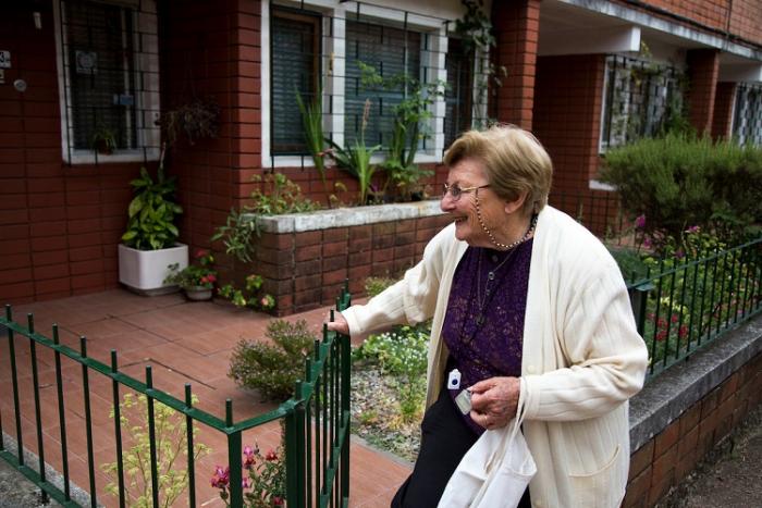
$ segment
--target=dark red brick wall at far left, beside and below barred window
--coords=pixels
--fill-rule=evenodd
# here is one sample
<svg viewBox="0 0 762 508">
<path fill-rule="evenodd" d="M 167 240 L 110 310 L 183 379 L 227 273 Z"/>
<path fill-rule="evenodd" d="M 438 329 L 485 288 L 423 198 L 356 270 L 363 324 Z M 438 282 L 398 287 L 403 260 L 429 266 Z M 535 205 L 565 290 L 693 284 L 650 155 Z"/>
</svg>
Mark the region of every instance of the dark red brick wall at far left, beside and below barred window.
<svg viewBox="0 0 762 508">
<path fill-rule="evenodd" d="M 69 166 L 61 157 L 51 3 L 12 2 L 0 16 L 0 49 L 12 67 L 0 84 L 0 302 L 103 290 L 118 284 L 116 244 L 128 182 L 139 164 Z M 28 88 L 19 92 L 13 82 Z"/>
</svg>

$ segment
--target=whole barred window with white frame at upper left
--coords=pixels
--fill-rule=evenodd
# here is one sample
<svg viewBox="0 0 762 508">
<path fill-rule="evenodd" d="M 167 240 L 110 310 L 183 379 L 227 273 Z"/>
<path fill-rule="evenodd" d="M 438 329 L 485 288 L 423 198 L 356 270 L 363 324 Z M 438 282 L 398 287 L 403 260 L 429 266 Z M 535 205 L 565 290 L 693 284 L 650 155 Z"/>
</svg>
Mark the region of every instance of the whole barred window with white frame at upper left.
<svg viewBox="0 0 762 508">
<path fill-rule="evenodd" d="M 156 5 L 54 2 L 63 156 L 69 162 L 158 154 Z M 106 143 L 103 141 L 106 139 Z M 98 150 L 98 141 L 108 150 Z"/>
</svg>

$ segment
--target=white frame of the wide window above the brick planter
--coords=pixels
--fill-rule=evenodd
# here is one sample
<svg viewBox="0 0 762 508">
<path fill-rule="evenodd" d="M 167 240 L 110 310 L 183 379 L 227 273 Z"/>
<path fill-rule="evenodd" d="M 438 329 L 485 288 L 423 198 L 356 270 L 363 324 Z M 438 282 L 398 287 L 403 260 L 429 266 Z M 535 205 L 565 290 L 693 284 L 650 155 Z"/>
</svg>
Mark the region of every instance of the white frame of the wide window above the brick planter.
<svg viewBox="0 0 762 508">
<path fill-rule="evenodd" d="M 426 51 L 421 49 L 420 65 L 435 69 L 435 73 L 429 76 L 431 82 L 441 79 L 446 82 L 447 71 L 444 67 L 445 52 L 447 50 L 446 29 L 442 20 L 409 13 L 405 20 L 404 2 L 396 7 L 380 7 L 362 3 L 360 15 L 362 20 L 377 21 L 379 24 L 390 23 L 398 26 L 407 22 L 407 26 L 416 32 L 421 32 L 429 37 L 430 47 Z M 325 75 L 323 82 L 323 107 L 333 98 L 333 114 L 324 114 L 325 132 L 333 134 L 333 140 L 337 145 L 344 144 L 344 71 L 346 65 L 346 15 L 356 12 L 355 2 L 340 2 L 339 0 L 307 0 L 292 1 L 282 0 L 279 5 L 293 8 L 309 8 L 323 14 L 323 33 L 332 33 L 333 37 L 321 37 L 321 60 L 323 69 L 332 65 L 333 73 Z M 455 16 L 453 17 L 455 18 Z M 271 88 L 271 64 L 270 64 L 270 2 L 261 2 L 261 161 L 262 168 L 295 168 L 312 166 L 312 159 L 309 156 L 274 156 L 270 154 L 270 117 L 272 114 L 270 104 Z M 333 24 L 333 26 L 331 26 Z M 428 54 L 427 54 L 428 53 Z M 332 62 L 331 62 L 332 57 Z M 425 151 L 416 153 L 415 162 L 440 162 L 444 150 L 444 112 L 445 102 L 443 97 L 438 97 L 432 104 L 432 117 L 430 120 L 431 139 L 433 143 Z M 371 159 L 373 163 L 383 161 L 385 156 L 374 154 Z"/>
</svg>

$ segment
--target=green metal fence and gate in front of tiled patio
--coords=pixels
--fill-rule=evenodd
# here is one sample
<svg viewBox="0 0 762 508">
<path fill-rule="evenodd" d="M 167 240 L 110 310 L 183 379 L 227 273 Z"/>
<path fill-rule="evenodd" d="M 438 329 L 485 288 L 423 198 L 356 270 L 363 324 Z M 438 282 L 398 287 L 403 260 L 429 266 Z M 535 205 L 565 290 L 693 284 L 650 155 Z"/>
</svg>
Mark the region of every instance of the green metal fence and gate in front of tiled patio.
<svg viewBox="0 0 762 508">
<path fill-rule="evenodd" d="M 343 310 L 349 306 L 351 298 L 346 288 L 336 299 L 336 309 Z M 333 311 L 331 312 L 333 318 Z M 150 483 L 152 506 L 163 506 L 160 499 L 161 472 L 157 468 L 157 429 L 156 408 L 157 402 L 164 405 L 185 419 L 187 442 L 187 501 L 190 507 L 197 506 L 196 478 L 197 464 L 194 463 L 194 428 L 197 424 L 206 425 L 213 431 L 223 434 L 228 445 L 228 462 L 230 463 L 228 503 L 233 507 L 244 506 L 245 495 L 242 486 L 243 448 L 242 435 L 244 431 L 254 429 L 265 423 L 283 420 L 285 429 L 285 469 L 286 469 L 286 499 L 288 507 L 339 507 L 347 506 L 349 498 L 349 371 L 351 350 L 349 337 L 328 332 L 323 327 L 322 340 L 316 340 L 314 355 L 306 360 L 305 381 L 296 383 L 295 395 L 276 409 L 234 423 L 233 404 L 228 399 L 225 405 L 225 419 L 219 419 L 213 414 L 194 407 L 190 385 L 185 385 L 185 399 L 180 400 L 162 391 L 153 387 L 151 368 L 146 368 L 145 383 L 120 372 L 116 351 L 111 350 L 111 364 L 107 365 L 87 356 L 87 339 L 81 338 L 79 350 L 74 350 L 59 340 L 59 332 L 52 326 L 52 339 L 35 331 L 34 318 L 27 317 L 26 326 L 13 321 L 11 307 L 5 307 L 5 317 L 0 318 L 0 327 L 5 327 L 8 337 L 8 355 L 10 362 L 11 391 L 3 391 L 0 397 L 12 397 L 13 419 L 15 425 L 9 430 L 15 434 L 15 453 L 5 445 L 3 414 L 0 412 L 0 457 L 15 467 L 26 478 L 36 483 L 42 491 L 42 496 L 52 497 L 63 506 L 81 506 L 73 500 L 70 485 L 71 445 L 66 442 L 66 405 L 71 399 L 64 399 L 62 379 L 62 358 L 67 358 L 81 365 L 81 380 L 84 397 L 84 420 L 86 425 L 87 471 L 89 505 L 99 506 L 102 503 L 98 498 L 98 485 L 96 484 L 96 449 L 94 449 L 94 422 L 91 413 L 90 386 L 95 380 L 90 374 L 102 376 L 111 384 L 113 411 L 113 439 L 116 447 L 116 483 L 119 506 L 130 506 L 131 499 L 125 492 L 125 470 L 123 453 L 123 420 L 120 414 L 120 393 L 126 389 L 137 394 L 144 394 L 147 400 L 147 420 L 150 443 Z M 26 340 L 24 340 L 26 338 Z M 21 339 L 21 340 L 20 340 Z M 27 344 L 28 343 L 28 344 Z M 27 463 L 24 454 L 24 443 L 29 436 L 25 435 L 22 421 L 33 417 L 25 413 L 28 404 L 20 397 L 22 386 L 26 377 L 20 377 L 20 347 L 28 347 L 28 369 L 30 370 L 34 394 L 34 435 L 36 442 L 36 463 Z M 38 348 L 40 350 L 38 351 Z M 63 476 L 59 487 L 48 478 L 46 472 L 46 448 L 42 437 L 42 399 L 40 397 L 40 379 L 38 363 L 41 351 L 52 351 L 54 361 L 56 405 L 58 413 L 58 426 L 60 431 L 60 448 L 54 450 L 60 454 L 60 463 Z M 25 355 L 24 355 L 25 356 Z M 23 365 L 26 367 L 26 365 Z M 42 386 L 46 389 L 50 384 Z M 49 408 L 47 408 L 49 409 Z M 8 420 L 8 418 L 7 418 Z M 130 430 L 127 430 L 130 432 Z M 28 433 L 28 432 L 27 432 Z M 10 435 L 10 434 L 9 434 Z M 58 482 L 60 485 L 60 482 Z M 84 486 L 84 485 L 83 485 Z"/>
</svg>

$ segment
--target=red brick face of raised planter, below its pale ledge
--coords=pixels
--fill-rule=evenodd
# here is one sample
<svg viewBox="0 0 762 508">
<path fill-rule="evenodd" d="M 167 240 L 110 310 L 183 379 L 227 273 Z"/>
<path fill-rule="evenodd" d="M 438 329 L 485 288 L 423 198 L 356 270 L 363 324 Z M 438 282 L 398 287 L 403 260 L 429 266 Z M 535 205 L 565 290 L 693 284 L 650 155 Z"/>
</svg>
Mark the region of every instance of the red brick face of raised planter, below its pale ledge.
<svg viewBox="0 0 762 508">
<path fill-rule="evenodd" d="M 332 303 L 346 278 L 353 295 L 368 276 L 396 276 L 420 260 L 426 244 L 450 222 L 445 215 L 299 233 L 263 233 L 253 267 L 275 296 L 278 315 Z M 236 278 L 251 267 L 236 267 Z"/>
</svg>

